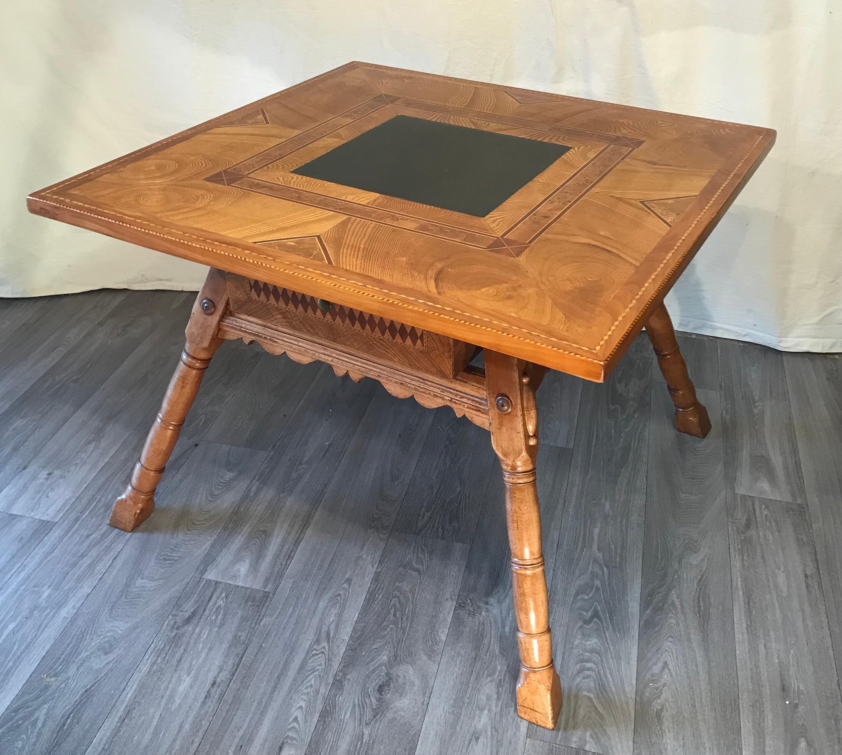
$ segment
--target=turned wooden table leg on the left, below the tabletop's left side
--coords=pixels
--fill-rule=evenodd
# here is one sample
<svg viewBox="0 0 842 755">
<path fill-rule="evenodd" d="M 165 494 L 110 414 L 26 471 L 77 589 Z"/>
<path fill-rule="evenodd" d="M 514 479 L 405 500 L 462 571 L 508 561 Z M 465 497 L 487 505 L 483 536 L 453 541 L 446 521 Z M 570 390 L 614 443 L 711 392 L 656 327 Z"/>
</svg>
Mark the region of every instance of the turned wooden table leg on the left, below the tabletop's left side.
<svg viewBox="0 0 842 755">
<path fill-rule="evenodd" d="M 210 357 L 222 343 L 216 331 L 226 303 L 225 273 L 212 269 L 190 313 L 184 351 L 169 381 L 161 410 L 152 423 L 141 459 L 131 474 L 125 493 L 120 495 L 111 510 L 109 524 L 112 527 L 131 533 L 152 513 L 155 489 L 179 439 L 184 417 L 199 391 Z"/>
</svg>

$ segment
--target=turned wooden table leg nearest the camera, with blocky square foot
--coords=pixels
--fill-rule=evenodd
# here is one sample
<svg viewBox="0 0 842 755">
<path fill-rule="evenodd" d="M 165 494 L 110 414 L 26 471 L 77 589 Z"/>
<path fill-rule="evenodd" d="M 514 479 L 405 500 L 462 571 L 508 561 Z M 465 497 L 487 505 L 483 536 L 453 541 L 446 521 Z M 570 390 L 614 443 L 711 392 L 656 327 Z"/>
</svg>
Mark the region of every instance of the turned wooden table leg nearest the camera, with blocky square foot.
<svg viewBox="0 0 842 755">
<path fill-rule="evenodd" d="M 518 715 L 553 729 L 562 709 L 562 684 L 552 663 L 549 607 L 541 554 L 536 490 L 537 410 L 523 361 L 485 351 L 491 442 L 503 468 L 511 549 L 514 614 L 518 624 Z M 541 373 L 542 375 L 542 373 Z"/>
</svg>

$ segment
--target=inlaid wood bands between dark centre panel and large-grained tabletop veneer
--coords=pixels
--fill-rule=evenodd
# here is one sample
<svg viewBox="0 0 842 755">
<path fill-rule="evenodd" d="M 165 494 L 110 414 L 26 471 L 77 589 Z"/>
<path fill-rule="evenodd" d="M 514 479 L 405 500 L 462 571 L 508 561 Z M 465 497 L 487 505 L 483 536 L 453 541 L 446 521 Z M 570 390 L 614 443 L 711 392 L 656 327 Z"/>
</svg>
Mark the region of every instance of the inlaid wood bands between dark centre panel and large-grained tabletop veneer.
<svg viewBox="0 0 842 755">
<path fill-rule="evenodd" d="M 316 157 L 321 155 L 323 158 L 337 147 L 347 147 L 349 142 L 354 140 L 354 135 L 365 135 L 378 126 L 397 120 L 396 116 L 406 115 L 411 115 L 409 120 L 414 121 L 418 121 L 418 116 L 423 116 L 436 123 L 436 126 L 445 127 L 446 123 L 438 123 L 435 119 L 443 116 L 458 118 L 460 124 L 470 126 L 460 126 L 460 131 L 488 131 L 485 136 L 490 138 L 503 136 L 495 129 L 504 126 L 507 131 L 516 131 L 520 137 L 529 137 L 521 138 L 520 142 L 540 138 L 550 142 L 541 146 L 550 147 L 552 144 L 552 147 L 561 147 L 562 153 L 570 149 L 568 144 L 578 144 L 579 147 L 590 145 L 593 151 L 589 159 L 577 169 L 560 175 L 559 180 L 546 185 L 546 189 L 541 187 L 540 182 L 530 182 L 532 186 L 527 190 L 530 196 L 529 205 L 524 206 L 522 200 L 516 200 L 520 192 L 515 192 L 499 205 L 491 215 L 503 212 L 506 217 L 511 218 L 503 221 L 502 225 L 501 222 L 492 225 L 482 217 L 455 211 L 450 212 L 446 222 L 437 222 L 434 217 L 425 214 L 427 211 L 424 206 L 417 202 L 406 202 L 400 207 L 381 207 L 369 201 L 358 201 L 348 196 L 330 193 L 327 188 L 332 185 L 330 181 L 301 185 L 300 180 L 293 180 L 302 168 L 313 162 L 313 150 L 316 151 Z M 482 117 L 477 117 L 478 115 Z M 344 131 L 349 126 L 354 126 L 353 132 Z M 517 131 L 518 129 L 520 131 Z M 330 212 L 339 212 L 349 217 L 359 217 L 393 228 L 425 233 L 435 238 L 456 241 L 517 259 L 547 228 L 582 200 L 643 143 L 640 139 L 621 137 L 594 129 L 537 124 L 509 115 L 477 114 L 475 110 L 455 105 L 378 95 L 333 119 L 301 131 L 295 137 L 286 139 L 274 147 L 249 155 L 226 169 L 210 174 L 205 180 Z M 324 144 L 325 147 L 318 147 L 320 144 Z M 303 157 L 299 158 L 298 155 Z M 273 169 L 273 166 L 281 164 L 284 165 L 283 169 Z M 270 174 L 266 174 L 267 170 L 271 171 Z M 293 179 L 290 179 L 290 175 Z M 517 206 L 518 212 L 509 215 L 509 206 Z M 291 248 L 285 251 L 301 254 L 300 251 Z"/>
</svg>

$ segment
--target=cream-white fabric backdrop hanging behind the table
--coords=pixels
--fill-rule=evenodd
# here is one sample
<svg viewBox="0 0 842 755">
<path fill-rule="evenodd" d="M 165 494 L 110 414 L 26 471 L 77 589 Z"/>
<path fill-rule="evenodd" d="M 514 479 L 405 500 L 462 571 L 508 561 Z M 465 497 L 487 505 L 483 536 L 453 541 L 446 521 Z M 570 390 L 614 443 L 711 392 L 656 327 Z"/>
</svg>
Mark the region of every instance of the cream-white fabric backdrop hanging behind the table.
<svg viewBox="0 0 842 755">
<path fill-rule="evenodd" d="M 667 303 L 680 329 L 842 351 L 838 0 L 3 0 L 0 295 L 198 288 L 24 196 L 354 59 L 777 129 Z"/>
</svg>

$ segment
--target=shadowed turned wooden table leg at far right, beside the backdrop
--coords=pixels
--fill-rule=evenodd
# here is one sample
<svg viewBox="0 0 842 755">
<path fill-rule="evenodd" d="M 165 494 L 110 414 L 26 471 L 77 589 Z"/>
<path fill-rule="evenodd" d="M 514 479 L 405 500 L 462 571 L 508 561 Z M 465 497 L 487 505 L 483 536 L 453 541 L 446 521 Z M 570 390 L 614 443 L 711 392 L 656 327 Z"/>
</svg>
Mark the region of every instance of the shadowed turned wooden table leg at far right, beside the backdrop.
<svg viewBox="0 0 842 755">
<path fill-rule="evenodd" d="M 667 381 L 669 395 L 675 404 L 675 429 L 703 438 L 711 431 L 707 410 L 695 397 L 695 388 L 687 373 L 687 365 L 675 340 L 673 321 L 663 303 L 649 316 L 646 333 L 658 356 L 658 367 Z"/>
</svg>

